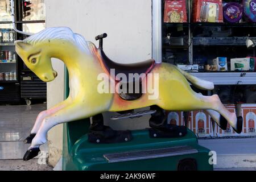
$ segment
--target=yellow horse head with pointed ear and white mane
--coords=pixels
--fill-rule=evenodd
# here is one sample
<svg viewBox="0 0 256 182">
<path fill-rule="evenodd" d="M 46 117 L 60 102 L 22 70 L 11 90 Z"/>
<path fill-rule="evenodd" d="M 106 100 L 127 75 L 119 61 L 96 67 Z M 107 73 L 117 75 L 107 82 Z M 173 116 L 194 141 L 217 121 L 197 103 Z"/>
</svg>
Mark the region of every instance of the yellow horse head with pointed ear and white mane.
<svg viewBox="0 0 256 182">
<path fill-rule="evenodd" d="M 70 28 L 50 27 L 24 40 L 16 40 L 15 50 L 32 72 L 49 82 L 57 76 L 51 57 L 64 60 L 71 55 L 71 51 L 75 54 L 79 48 L 89 52 L 86 45 L 82 36 L 74 34 Z"/>
</svg>

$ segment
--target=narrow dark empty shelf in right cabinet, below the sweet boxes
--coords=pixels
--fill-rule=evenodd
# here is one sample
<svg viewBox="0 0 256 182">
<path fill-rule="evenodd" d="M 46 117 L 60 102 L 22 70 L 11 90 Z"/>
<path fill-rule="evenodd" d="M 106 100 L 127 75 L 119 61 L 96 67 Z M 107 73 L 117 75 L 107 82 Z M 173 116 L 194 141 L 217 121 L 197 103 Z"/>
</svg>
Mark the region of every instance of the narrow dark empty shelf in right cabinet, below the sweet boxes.
<svg viewBox="0 0 256 182">
<path fill-rule="evenodd" d="M 194 46 L 246 46 L 247 39 L 256 39 L 254 37 L 232 37 L 232 38 L 202 38 L 194 37 Z"/>
</svg>

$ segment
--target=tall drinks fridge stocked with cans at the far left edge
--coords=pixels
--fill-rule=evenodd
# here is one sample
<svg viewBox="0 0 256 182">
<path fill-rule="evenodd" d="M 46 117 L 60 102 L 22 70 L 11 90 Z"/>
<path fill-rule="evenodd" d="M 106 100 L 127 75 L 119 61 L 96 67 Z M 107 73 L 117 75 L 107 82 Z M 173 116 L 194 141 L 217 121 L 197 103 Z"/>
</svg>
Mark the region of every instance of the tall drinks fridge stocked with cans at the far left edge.
<svg viewBox="0 0 256 182">
<path fill-rule="evenodd" d="M 11 24 L 10 1 L 0 1 L 0 103 L 19 102 L 18 61 L 14 41 L 16 32 Z"/>
</svg>

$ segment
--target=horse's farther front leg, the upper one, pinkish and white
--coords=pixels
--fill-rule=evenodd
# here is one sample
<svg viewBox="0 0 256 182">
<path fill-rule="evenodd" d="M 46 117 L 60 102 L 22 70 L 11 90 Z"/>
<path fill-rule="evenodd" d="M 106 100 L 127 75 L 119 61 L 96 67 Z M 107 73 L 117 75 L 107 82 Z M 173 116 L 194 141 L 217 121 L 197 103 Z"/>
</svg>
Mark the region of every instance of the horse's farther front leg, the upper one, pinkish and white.
<svg viewBox="0 0 256 182">
<path fill-rule="evenodd" d="M 69 103 L 71 102 L 70 98 L 68 97 L 66 100 L 60 102 L 59 104 L 53 106 L 51 109 L 47 109 L 44 111 L 41 111 L 38 114 L 38 117 L 36 117 L 36 121 L 35 124 L 32 128 L 32 130 L 30 131 L 30 135 L 24 139 L 24 143 L 31 143 L 32 139 L 35 137 L 36 133 L 38 133 L 38 130 L 44 120 L 44 118 L 48 117 L 51 114 L 56 113 L 57 111 L 59 111 L 60 109 L 63 109 L 65 106 L 67 106 Z"/>
</svg>

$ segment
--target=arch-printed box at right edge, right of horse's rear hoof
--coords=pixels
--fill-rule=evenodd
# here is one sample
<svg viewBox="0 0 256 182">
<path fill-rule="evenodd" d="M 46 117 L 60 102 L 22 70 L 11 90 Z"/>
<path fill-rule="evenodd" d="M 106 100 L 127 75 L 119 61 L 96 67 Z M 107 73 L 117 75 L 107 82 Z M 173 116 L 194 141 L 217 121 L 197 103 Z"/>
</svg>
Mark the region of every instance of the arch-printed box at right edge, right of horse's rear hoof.
<svg viewBox="0 0 256 182">
<path fill-rule="evenodd" d="M 242 104 L 243 133 L 251 136 L 256 135 L 256 104 Z"/>
</svg>

